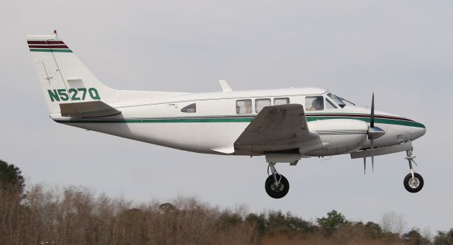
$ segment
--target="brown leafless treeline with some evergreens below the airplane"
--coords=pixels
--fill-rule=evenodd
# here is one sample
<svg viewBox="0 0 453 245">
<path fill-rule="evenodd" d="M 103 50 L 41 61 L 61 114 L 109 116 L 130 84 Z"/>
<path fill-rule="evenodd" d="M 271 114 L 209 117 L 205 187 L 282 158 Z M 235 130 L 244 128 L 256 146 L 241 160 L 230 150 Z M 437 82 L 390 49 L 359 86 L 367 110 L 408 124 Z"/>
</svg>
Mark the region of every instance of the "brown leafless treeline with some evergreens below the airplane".
<svg viewBox="0 0 453 245">
<path fill-rule="evenodd" d="M 335 210 L 316 222 L 291 213 L 220 210 L 195 198 L 132 205 L 85 188 L 35 185 L 0 161 L 0 244 L 453 244 L 453 229 L 430 239 L 350 222 Z"/>
</svg>

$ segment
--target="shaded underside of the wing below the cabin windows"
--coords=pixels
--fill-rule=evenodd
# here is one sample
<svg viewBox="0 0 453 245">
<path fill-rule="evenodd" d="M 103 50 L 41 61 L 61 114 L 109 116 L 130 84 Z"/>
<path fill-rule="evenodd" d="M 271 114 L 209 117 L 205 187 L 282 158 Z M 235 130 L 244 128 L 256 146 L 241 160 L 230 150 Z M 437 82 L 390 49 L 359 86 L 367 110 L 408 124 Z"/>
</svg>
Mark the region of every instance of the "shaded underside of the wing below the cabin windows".
<svg viewBox="0 0 453 245">
<path fill-rule="evenodd" d="M 236 142 L 235 152 L 266 154 L 268 152 L 297 152 L 301 142 L 319 137 L 310 132 L 304 107 L 299 104 L 266 106 L 246 127 Z"/>
</svg>

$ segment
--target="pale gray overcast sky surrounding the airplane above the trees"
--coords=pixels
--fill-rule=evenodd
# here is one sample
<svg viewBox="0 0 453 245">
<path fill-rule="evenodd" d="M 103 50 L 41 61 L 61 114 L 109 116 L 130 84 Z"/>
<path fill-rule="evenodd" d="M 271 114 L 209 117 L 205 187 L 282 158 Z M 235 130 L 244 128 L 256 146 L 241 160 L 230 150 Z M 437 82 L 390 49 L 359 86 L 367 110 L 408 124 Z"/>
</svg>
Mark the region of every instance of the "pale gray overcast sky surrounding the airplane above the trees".
<svg viewBox="0 0 453 245">
<path fill-rule="evenodd" d="M 0 159 L 30 183 L 86 186 L 137 201 L 195 195 L 212 205 L 291 211 L 304 219 L 336 209 L 349 220 L 405 215 L 408 227 L 453 227 L 452 1 L 3 1 L 0 6 Z M 281 200 L 264 190 L 263 157 L 210 156 L 54 123 L 24 35 L 57 29 L 115 89 L 219 91 L 317 86 L 418 120 L 420 193 L 403 188 L 405 154 L 333 156 L 280 164 Z"/>
</svg>

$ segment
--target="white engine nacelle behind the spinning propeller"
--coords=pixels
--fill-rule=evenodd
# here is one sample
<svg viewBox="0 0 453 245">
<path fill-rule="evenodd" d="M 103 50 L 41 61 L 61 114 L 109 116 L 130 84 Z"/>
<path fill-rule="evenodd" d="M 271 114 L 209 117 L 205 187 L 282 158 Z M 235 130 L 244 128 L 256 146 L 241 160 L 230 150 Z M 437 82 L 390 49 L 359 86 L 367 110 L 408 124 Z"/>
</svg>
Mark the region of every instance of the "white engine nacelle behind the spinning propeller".
<svg viewBox="0 0 453 245">
<path fill-rule="evenodd" d="M 307 152 L 325 156 L 355 152 L 367 141 L 368 125 L 362 120 L 326 119 L 308 123 L 309 130 L 318 132 L 323 149 Z"/>
</svg>

